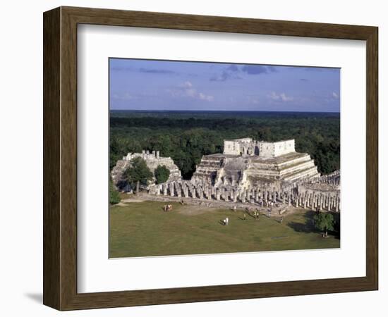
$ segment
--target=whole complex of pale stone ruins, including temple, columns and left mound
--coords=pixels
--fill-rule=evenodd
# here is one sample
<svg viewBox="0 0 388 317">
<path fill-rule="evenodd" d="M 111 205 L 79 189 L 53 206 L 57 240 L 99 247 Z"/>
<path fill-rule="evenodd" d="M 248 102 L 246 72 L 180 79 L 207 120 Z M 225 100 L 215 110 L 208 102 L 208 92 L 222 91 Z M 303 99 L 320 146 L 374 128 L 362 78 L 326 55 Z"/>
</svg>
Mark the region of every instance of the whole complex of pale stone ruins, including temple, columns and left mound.
<svg viewBox="0 0 388 317">
<path fill-rule="evenodd" d="M 136 156 L 142 156 L 152 171 L 165 165 L 171 172 L 167 182 L 147 187 L 155 200 L 187 199 L 192 204 L 239 208 L 270 206 L 278 214 L 291 206 L 340 211 L 339 170 L 320 175 L 309 154 L 295 151 L 294 139 L 224 140 L 223 153 L 202 156 L 191 180 L 183 180 L 174 161 L 160 157 L 159 151 L 128 154 L 111 172 L 117 187 L 124 188 L 123 170 Z"/>
</svg>

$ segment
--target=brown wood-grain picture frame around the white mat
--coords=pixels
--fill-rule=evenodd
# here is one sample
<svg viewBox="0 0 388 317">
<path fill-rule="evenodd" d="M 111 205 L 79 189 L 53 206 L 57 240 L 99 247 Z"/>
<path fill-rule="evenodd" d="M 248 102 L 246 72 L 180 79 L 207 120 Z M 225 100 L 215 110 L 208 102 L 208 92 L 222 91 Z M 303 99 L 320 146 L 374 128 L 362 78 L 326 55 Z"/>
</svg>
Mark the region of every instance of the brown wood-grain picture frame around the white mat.
<svg viewBox="0 0 388 317">
<path fill-rule="evenodd" d="M 44 13 L 44 293 L 59 310 L 205 302 L 378 287 L 377 27 L 60 7 Z M 366 41 L 366 276 L 122 292 L 77 292 L 77 25 Z"/>
</svg>

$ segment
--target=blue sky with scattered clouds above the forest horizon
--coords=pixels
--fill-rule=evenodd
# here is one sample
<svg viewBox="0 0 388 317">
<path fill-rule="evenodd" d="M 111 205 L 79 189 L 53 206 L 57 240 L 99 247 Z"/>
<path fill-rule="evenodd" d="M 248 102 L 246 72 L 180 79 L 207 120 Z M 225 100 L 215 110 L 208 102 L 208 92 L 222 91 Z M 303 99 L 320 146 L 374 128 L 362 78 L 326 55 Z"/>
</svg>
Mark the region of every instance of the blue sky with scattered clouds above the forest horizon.
<svg viewBox="0 0 388 317">
<path fill-rule="evenodd" d="M 339 68 L 110 58 L 114 110 L 339 112 Z"/>
</svg>

